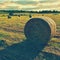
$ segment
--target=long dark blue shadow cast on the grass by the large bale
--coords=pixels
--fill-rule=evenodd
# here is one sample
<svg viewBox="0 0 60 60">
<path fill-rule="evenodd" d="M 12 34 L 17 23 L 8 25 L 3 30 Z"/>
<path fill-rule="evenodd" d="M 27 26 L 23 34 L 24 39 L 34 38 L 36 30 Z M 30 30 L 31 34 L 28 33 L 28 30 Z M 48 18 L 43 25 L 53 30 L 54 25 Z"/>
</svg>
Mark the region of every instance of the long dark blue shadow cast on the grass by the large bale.
<svg viewBox="0 0 60 60">
<path fill-rule="evenodd" d="M 0 51 L 0 60 L 34 60 L 36 56 L 39 56 L 40 53 L 42 53 L 44 57 L 47 58 L 47 60 L 49 60 L 48 57 L 51 60 L 51 56 L 54 56 L 56 59 L 58 58 L 58 60 L 60 60 L 60 56 L 51 53 L 41 52 L 45 46 L 46 45 L 44 44 L 40 44 L 39 40 L 25 40 L 24 42 L 14 44 Z"/>
</svg>

